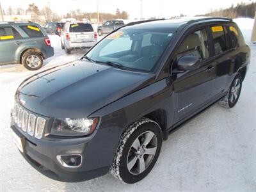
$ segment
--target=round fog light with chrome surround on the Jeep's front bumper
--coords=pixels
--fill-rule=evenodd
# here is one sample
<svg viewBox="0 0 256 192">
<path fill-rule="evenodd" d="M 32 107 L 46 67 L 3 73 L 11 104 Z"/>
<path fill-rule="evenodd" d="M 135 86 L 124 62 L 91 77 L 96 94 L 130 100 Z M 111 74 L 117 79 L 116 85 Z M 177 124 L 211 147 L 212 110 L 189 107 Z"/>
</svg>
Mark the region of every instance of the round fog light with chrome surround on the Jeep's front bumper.
<svg viewBox="0 0 256 192">
<path fill-rule="evenodd" d="M 62 166 L 75 168 L 82 164 L 82 156 L 81 155 L 59 155 L 57 156 L 59 163 Z"/>
</svg>

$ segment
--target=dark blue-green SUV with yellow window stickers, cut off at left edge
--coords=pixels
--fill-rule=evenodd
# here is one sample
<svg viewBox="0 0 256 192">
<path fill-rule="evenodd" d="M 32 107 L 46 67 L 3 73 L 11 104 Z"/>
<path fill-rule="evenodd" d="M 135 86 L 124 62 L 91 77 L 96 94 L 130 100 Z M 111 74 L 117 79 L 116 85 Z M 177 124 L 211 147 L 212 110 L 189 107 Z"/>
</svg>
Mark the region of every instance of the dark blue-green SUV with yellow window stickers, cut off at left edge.
<svg viewBox="0 0 256 192">
<path fill-rule="evenodd" d="M 45 30 L 34 22 L 0 22 L 0 65 L 21 63 L 38 70 L 54 55 Z"/>
</svg>

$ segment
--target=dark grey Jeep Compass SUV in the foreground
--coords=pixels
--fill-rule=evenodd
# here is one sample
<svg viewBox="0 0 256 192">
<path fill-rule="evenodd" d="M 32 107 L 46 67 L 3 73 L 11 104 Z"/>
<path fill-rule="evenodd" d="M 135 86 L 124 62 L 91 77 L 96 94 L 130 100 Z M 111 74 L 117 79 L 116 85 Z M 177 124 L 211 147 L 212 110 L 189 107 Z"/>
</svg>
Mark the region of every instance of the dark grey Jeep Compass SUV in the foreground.
<svg viewBox="0 0 256 192">
<path fill-rule="evenodd" d="M 45 175 L 88 180 L 110 172 L 127 183 L 152 170 L 172 129 L 220 100 L 235 106 L 250 49 L 230 19 L 140 21 L 79 61 L 23 81 L 12 133 Z"/>
</svg>

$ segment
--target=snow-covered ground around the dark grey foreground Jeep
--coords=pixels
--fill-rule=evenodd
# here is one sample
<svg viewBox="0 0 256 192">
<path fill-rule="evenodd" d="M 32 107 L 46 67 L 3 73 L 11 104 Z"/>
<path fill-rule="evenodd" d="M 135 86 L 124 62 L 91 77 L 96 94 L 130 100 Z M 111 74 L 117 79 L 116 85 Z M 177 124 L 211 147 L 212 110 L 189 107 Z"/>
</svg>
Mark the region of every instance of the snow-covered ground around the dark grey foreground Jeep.
<svg viewBox="0 0 256 192">
<path fill-rule="evenodd" d="M 50 36 L 55 56 L 45 68 L 76 60 L 86 50 L 67 56 L 60 38 Z M 17 86 L 34 74 L 0 72 L 0 191 L 256 191 L 256 46 L 237 106 L 212 105 L 164 141 L 152 172 L 141 182 L 122 184 L 110 174 L 77 183 L 48 179 L 32 168 L 10 134 L 10 110 Z"/>
</svg>

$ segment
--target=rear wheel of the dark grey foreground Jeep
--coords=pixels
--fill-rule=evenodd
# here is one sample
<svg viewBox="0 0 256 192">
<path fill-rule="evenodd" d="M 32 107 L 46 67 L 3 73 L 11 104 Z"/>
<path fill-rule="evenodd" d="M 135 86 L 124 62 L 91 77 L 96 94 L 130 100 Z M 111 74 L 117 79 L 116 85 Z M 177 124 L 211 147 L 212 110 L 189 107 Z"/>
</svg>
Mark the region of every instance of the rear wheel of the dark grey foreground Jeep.
<svg viewBox="0 0 256 192">
<path fill-rule="evenodd" d="M 239 99 L 242 90 L 242 84 L 242 76 L 241 74 L 237 74 L 230 87 L 228 88 L 227 94 L 225 97 L 223 97 L 223 99 L 220 100 L 220 105 L 224 108 L 233 108 Z"/>
</svg>

